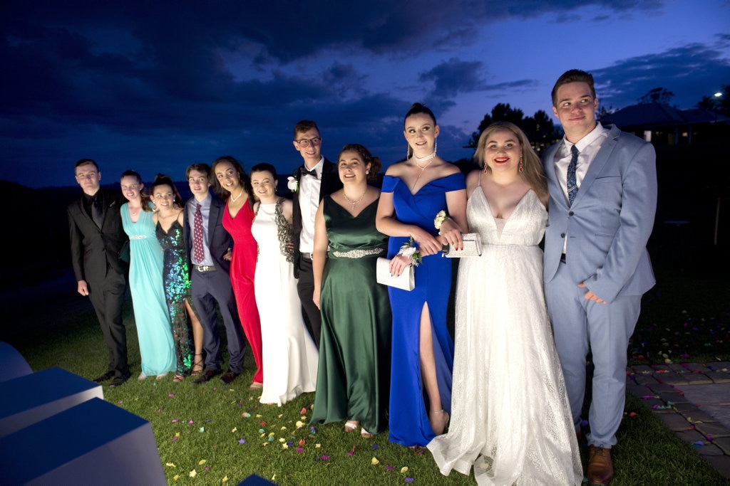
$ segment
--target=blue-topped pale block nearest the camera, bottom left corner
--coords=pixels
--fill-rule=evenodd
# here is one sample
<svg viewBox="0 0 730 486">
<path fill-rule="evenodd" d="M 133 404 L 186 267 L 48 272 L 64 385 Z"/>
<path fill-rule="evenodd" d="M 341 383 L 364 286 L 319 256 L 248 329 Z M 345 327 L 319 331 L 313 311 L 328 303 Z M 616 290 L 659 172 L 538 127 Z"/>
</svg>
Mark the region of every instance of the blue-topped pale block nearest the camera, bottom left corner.
<svg viewBox="0 0 730 486">
<path fill-rule="evenodd" d="M 0 438 L 0 478 L 16 485 L 165 485 L 152 426 L 91 399 Z"/>
</svg>

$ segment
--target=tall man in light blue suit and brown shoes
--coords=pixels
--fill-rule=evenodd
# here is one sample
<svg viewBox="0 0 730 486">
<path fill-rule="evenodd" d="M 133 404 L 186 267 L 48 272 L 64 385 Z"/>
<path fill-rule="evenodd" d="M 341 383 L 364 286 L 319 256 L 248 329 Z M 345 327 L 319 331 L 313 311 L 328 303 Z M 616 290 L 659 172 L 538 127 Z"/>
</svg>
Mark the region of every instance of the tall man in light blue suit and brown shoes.
<svg viewBox="0 0 730 486">
<path fill-rule="evenodd" d="M 566 71 L 553 87 L 565 137 L 543 157 L 550 189 L 545 298 L 576 431 L 593 353 L 588 481 L 613 478 L 611 447 L 623 416 L 626 348 L 641 296 L 654 283 L 646 250 L 656 211 L 651 144 L 596 122 L 593 77 Z"/>
</svg>

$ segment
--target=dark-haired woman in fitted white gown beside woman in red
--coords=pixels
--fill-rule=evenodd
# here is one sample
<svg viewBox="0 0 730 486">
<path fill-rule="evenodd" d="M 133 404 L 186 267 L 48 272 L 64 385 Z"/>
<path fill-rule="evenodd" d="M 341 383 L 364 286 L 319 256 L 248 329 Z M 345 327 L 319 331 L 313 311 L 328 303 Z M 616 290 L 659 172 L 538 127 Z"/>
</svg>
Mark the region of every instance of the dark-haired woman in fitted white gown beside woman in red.
<svg viewBox="0 0 730 486">
<path fill-rule="evenodd" d="M 253 281 L 261 318 L 264 388 L 261 403 L 283 405 L 300 393 L 315 391 L 319 355 L 301 319 L 291 249 L 291 200 L 276 195 L 276 169 L 251 168 L 251 187 L 258 198 L 251 233 L 258 243 Z"/>
</svg>

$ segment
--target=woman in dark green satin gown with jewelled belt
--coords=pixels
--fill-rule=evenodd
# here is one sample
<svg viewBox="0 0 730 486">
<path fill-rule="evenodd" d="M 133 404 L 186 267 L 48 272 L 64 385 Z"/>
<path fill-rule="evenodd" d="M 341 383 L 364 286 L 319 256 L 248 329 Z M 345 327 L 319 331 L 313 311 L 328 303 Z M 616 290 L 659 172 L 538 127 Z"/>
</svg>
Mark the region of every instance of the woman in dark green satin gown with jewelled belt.
<svg viewBox="0 0 730 486">
<path fill-rule="evenodd" d="M 359 144 L 338 157 L 343 188 L 326 196 L 315 219 L 313 300 L 322 311 L 312 423 L 347 420 L 343 431 L 370 437 L 388 425 L 391 307 L 376 282 L 388 237 L 375 228 L 380 160 Z M 328 255 L 328 256 L 327 256 Z"/>
</svg>

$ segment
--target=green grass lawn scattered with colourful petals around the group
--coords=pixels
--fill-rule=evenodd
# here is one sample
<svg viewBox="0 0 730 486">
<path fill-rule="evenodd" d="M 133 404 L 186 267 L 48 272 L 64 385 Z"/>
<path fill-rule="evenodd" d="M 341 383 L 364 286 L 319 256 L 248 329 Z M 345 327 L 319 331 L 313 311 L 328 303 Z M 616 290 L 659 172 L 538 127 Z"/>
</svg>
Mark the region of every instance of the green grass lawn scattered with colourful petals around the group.
<svg viewBox="0 0 730 486">
<path fill-rule="evenodd" d="M 671 273 L 658 277 L 660 284 L 645 297 L 629 347 L 632 362 L 729 358 L 729 283 Z M 44 312 L 51 317 L 40 317 Z M 88 378 L 104 372 L 106 351 L 90 307 L 74 312 L 34 308 L 27 315 L 28 321 L 47 321 L 5 339 L 34 370 L 62 367 Z M 104 398 L 150 421 L 170 484 L 237 484 L 250 474 L 281 485 L 474 482 L 473 476 L 457 472 L 442 476 L 428 450 L 391 444 L 387 434 L 362 439 L 344 434 L 342 423 L 308 426 L 313 393 L 284 407 L 259 404 L 258 394 L 248 390 L 250 354 L 246 372 L 229 386 L 217 379 L 200 386 L 190 379 L 173 383 L 172 375 L 138 382 L 139 349 L 129 304 L 125 322 L 133 377 L 120 388 L 104 388 Z M 584 465 L 585 455 L 583 450 Z M 616 486 L 723 484 L 714 469 L 631 396 L 613 458 Z"/>
</svg>

